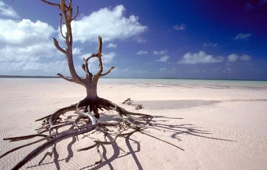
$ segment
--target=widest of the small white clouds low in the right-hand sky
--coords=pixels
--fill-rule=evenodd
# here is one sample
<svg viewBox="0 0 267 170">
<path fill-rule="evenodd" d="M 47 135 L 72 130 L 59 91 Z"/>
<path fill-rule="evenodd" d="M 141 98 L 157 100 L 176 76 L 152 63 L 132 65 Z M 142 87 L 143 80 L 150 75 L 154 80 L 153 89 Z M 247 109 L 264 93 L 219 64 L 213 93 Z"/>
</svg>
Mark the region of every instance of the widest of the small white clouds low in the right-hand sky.
<svg viewBox="0 0 267 170">
<path fill-rule="evenodd" d="M 213 55 L 208 55 L 204 51 L 199 51 L 198 53 L 187 52 L 184 54 L 182 60 L 179 64 L 198 64 L 198 63 L 221 63 L 223 62 L 224 57 L 218 56 L 214 57 Z"/>
</svg>

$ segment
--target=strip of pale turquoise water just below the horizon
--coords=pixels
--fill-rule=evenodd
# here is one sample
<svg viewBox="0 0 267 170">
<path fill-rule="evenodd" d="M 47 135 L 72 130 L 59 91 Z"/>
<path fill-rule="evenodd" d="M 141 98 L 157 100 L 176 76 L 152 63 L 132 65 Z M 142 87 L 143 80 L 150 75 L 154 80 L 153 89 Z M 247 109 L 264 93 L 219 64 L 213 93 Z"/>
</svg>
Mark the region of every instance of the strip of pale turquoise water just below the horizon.
<svg viewBox="0 0 267 170">
<path fill-rule="evenodd" d="M 62 82 L 60 78 L 0 78 L 0 82 Z M 197 79 L 126 79 L 102 78 L 100 84 L 132 84 L 132 85 L 175 85 L 175 86 L 207 86 L 207 87 L 246 87 L 267 88 L 267 81 L 243 80 L 197 80 Z"/>
</svg>

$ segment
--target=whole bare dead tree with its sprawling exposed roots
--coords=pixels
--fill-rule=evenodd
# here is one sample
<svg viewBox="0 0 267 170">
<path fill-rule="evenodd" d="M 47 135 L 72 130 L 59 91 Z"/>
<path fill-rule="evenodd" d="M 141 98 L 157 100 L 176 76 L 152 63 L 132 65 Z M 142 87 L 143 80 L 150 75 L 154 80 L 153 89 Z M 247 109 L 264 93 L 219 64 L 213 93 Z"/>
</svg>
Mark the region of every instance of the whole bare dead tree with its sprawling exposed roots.
<svg viewBox="0 0 267 170">
<path fill-rule="evenodd" d="M 97 148 L 97 153 L 100 155 L 100 160 L 96 163 L 100 163 L 103 160 L 103 157 L 99 151 L 99 147 L 102 145 L 112 144 L 113 142 L 116 142 L 117 137 L 120 136 L 126 136 L 130 135 L 136 131 L 140 131 L 146 128 L 153 128 L 150 123 L 152 116 L 146 115 L 146 114 L 140 114 L 140 113 L 133 113 L 129 112 L 122 107 L 118 106 L 117 104 L 108 101 L 106 99 L 100 98 L 97 95 L 97 85 L 98 80 L 109 74 L 112 69 L 115 67 L 109 68 L 105 73 L 103 73 L 103 65 L 102 65 L 102 38 L 98 37 L 98 51 L 97 53 L 93 53 L 91 56 L 88 56 L 87 58 L 83 59 L 82 68 L 85 72 L 85 77 L 80 77 L 73 64 L 73 55 L 72 55 L 72 44 L 73 44 L 73 38 L 72 38 L 72 31 L 71 31 L 71 21 L 73 21 L 78 16 L 78 7 L 77 12 L 75 15 L 73 15 L 73 8 L 72 8 L 72 1 L 69 0 L 68 4 L 66 4 L 66 0 L 60 0 L 60 4 L 52 3 L 47 0 L 41 0 L 49 5 L 55 6 L 60 9 L 60 32 L 62 37 L 65 39 L 66 49 L 63 49 L 56 38 L 53 38 L 55 47 L 62 53 L 66 55 L 67 63 L 69 72 L 71 74 L 71 78 L 68 78 L 66 76 L 63 76 L 62 74 L 58 73 L 57 75 L 69 82 L 77 83 L 79 85 L 83 85 L 86 89 L 86 97 L 78 102 L 74 103 L 70 106 L 61 108 L 54 112 L 51 115 L 48 115 L 46 117 L 43 117 L 41 119 L 37 119 L 36 121 L 42 120 L 42 127 L 37 129 L 38 133 L 34 135 L 28 135 L 28 136 L 17 136 L 17 137 L 9 137 L 4 138 L 4 140 L 10 140 L 10 141 L 17 141 L 17 140 L 25 140 L 25 139 L 31 139 L 34 137 L 41 137 L 41 139 L 35 140 L 33 142 L 30 142 L 28 144 L 19 146 L 17 148 L 14 148 L 2 155 L 0 155 L 0 158 L 3 156 L 12 153 L 18 149 L 21 149 L 26 146 L 30 146 L 32 144 L 43 142 L 40 144 L 37 148 L 35 148 L 32 152 L 28 153 L 25 157 L 23 157 L 14 167 L 13 170 L 17 170 L 21 168 L 24 164 L 26 164 L 29 160 L 31 160 L 33 157 L 37 156 L 39 153 L 42 153 L 43 151 L 47 151 L 43 158 L 40 160 L 39 164 L 45 159 L 47 155 L 52 155 L 56 144 L 64 139 L 67 139 L 69 137 L 78 136 L 81 134 L 89 133 L 92 134 L 96 131 L 101 132 L 106 137 L 107 135 L 113 136 L 113 139 L 111 141 L 101 141 L 96 137 L 92 137 L 94 139 L 93 144 L 89 147 L 82 148 L 78 151 L 86 151 L 92 148 Z M 67 28 L 66 34 L 63 34 L 62 32 L 62 26 L 65 24 Z M 97 29 L 97 28 L 96 28 Z M 97 58 L 99 62 L 99 70 L 98 72 L 93 75 L 88 68 L 88 60 L 92 58 Z M 117 122 L 102 122 L 98 121 L 100 115 L 99 115 L 99 109 L 100 110 L 115 110 L 120 120 Z M 74 111 L 78 115 L 77 119 L 74 119 L 72 122 L 61 122 L 60 116 L 62 114 L 65 114 L 69 111 Z M 78 126 L 78 123 L 81 119 L 88 119 L 88 121 Z M 70 125 L 70 127 L 66 130 L 66 127 Z M 65 127 L 65 130 L 61 130 L 63 127 Z M 113 127 L 116 128 L 116 131 L 112 131 L 108 129 L 107 127 Z M 45 134 L 47 133 L 47 134 Z M 50 150 L 48 150 L 50 148 Z"/>
</svg>

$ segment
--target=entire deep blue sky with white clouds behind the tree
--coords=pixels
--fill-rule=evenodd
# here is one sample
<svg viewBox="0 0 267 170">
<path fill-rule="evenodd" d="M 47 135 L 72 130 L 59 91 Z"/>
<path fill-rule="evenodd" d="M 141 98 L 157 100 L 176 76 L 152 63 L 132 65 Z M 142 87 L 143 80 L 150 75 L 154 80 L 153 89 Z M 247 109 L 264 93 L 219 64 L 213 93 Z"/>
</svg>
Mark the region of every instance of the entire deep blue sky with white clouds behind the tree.
<svg viewBox="0 0 267 170">
<path fill-rule="evenodd" d="M 58 2 L 58 0 L 50 0 Z M 73 59 L 103 39 L 106 77 L 267 80 L 267 0 L 73 0 Z M 74 8 L 76 11 L 76 8 Z M 59 13 L 39 0 L 0 0 L 0 75 L 70 76 Z M 63 27 L 63 32 L 65 28 Z M 96 73 L 98 63 L 89 62 Z"/>
</svg>

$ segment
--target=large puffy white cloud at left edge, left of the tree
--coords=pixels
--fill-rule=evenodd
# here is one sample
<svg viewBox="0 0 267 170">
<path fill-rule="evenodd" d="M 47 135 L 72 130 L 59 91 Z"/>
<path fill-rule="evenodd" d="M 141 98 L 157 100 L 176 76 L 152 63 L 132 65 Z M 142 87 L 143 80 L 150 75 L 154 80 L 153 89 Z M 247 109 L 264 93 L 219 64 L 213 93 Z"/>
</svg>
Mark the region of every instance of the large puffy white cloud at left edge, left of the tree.
<svg viewBox="0 0 267 170">
<path fill-rule="evenodd" d="M 0 19 L 0 61 L 37 61 L 62 55 L 53 45 L 55 30 L 47 23 L 29 19 Z"/>
</svg>

